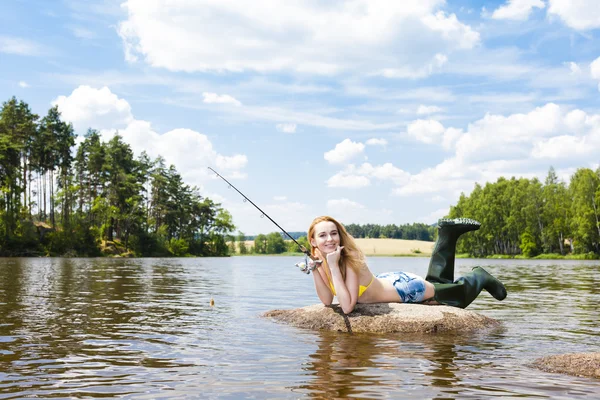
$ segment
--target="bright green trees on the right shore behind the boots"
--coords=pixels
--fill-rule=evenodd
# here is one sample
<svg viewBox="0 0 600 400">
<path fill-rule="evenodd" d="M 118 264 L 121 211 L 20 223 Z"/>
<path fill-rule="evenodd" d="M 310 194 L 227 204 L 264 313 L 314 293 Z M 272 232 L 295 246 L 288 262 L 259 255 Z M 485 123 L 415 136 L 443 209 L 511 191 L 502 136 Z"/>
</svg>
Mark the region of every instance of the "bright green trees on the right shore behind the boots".
<svg viewBox="0 0 600 400">
<path fill-rule="evenodd" d="M 467 217 L 481 229 L 462 238 L 458 251 L 485 257 L 567 253 L 600 255 L 600 168 L 578 169 L 568 185 L 550 168 L 538 179 L 499 178 L 461 194 L 451 218 Z"/>
</svg>

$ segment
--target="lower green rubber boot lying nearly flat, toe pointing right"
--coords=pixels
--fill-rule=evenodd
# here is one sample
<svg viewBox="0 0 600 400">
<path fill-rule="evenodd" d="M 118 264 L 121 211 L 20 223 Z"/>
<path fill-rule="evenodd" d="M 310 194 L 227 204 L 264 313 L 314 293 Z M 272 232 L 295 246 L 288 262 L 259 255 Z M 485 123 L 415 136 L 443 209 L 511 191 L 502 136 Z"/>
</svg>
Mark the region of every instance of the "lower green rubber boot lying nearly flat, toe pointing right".
<svg viewBox="0 0 600 400">
<path fill-rule="evenodd" d="M 459 308 L 466 308 L 483 289 L 496 300 L 504 300 L 507 295 L 502 282 L 481 267 L 473 268 L 472 272 L 458 278 L 454 283 L 434 283 L 433 286 L 433 298 L 438 303 Z"/>
</svg>

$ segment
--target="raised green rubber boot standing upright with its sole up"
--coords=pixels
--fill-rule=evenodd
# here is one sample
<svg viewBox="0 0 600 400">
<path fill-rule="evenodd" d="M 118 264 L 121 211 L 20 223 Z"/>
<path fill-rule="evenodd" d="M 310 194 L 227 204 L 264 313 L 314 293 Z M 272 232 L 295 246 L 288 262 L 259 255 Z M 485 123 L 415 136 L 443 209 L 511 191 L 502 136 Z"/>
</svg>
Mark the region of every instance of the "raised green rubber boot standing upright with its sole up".
<svg viewBox="0 0 600 400">
<path fill-rule="evenodd" d="M 431 283 L 454 282 L 456 242 L 463 233 L 476 231 L 481 224 L 469 218 L 440 219 L 438 238 L 431 253 L 426 281 Z"/>
</svg>

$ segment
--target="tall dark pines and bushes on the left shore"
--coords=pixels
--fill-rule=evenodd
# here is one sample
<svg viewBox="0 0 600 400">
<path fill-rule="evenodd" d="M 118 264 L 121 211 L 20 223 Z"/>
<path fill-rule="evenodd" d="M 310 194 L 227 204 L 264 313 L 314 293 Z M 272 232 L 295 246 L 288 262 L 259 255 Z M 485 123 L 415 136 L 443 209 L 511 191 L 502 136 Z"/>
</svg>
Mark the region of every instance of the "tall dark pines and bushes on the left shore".
<svg viewBox="0 0 600 400">
<path fill-rule="evenodd" d="M 75 143 L 56 106 L 40 118 L 15 97 L 2 104 L 0 256 L 228 254 L 229 212 L 162 157 L 135 158 L 91 128 Z"/>
</svg>

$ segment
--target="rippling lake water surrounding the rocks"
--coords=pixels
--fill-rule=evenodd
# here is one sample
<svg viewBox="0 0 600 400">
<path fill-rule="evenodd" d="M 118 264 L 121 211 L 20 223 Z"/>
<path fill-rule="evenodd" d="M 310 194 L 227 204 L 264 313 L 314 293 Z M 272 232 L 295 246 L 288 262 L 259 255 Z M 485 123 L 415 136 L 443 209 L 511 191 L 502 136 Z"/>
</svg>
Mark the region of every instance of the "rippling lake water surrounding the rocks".
<svg viewBox="0 0 600 400">
<path fill-rule="evenodd" d="M 0 259 L 0 399 L 600 398 L 530 368 L 600 351 L 600 263 L 459 259 L 509 290 L 471 335 L 312 332 L 260 315 L 318 302 L 295 257 Z M 426 258 L 369 259 L 422 276 Z M 210 299 L 215 301 L 210 306 Z"/>
</svg>

